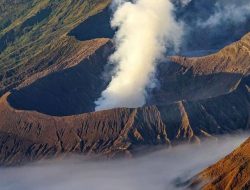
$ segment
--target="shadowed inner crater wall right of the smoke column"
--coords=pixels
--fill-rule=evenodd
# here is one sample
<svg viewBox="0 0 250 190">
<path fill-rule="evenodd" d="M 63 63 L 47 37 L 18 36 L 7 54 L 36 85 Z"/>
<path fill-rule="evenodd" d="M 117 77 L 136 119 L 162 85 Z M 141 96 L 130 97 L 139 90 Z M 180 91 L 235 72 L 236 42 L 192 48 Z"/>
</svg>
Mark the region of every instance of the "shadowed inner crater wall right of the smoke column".
<svg viewBox="0 0 250 190">
<path fill-rule="evenodd" d="M 237 73 L 194 74 L 192 67 L 163 63 L 158 67 L 159 86 L 152 90 L 148 104 L 166 104 L 179 100 L 200 100 L 229 93 L 243 76 Z"/>
</svg>

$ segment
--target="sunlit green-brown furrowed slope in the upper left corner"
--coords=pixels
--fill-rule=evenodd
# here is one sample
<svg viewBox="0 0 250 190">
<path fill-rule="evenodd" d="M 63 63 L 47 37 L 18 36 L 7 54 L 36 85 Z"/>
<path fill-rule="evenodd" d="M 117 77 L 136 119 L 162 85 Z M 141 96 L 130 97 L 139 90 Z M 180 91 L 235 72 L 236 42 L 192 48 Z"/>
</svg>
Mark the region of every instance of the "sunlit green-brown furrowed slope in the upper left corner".
<svg viewBox="0 0 250 190">
<path fill-rule="evenodd" d="M 86 46 L 68 33 L 109 3 L 110 0 L 1 1 L 0 95 Z"/>
</svg>

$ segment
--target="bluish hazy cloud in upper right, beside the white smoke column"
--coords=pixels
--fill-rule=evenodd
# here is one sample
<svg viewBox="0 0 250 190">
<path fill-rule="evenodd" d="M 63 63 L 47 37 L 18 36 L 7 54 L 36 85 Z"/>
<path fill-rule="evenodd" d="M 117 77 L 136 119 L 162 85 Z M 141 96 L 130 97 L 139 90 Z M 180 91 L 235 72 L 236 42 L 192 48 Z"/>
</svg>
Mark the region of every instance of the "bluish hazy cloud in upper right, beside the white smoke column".
<svg viewBox="0 0 250 190">
<path fill-rule="evenodd" d="M 250 31 L 249 0 L 172 0 L 185 24 L 181 52 L 218 50 Z"/>
</svg>

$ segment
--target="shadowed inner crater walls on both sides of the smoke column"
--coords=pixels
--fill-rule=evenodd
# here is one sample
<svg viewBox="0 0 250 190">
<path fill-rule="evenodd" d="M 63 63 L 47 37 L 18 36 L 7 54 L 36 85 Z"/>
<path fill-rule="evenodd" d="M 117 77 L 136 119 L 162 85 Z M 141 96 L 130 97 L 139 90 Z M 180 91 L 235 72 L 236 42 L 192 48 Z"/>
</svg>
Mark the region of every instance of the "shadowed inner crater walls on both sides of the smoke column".
<svg viewBox="0 0 250 190">
<path fill-rule="evenodd" d="M 35 110 L 55 116 L 94 111 L 94 101 L 100 97 L 109 81 L 109 77 L 104 80 L 102 75 L 106 61 L 95 59 L 50 74 L 13 91 L 8 97 L 10 105 L 19 110 Z M 200 100 L 226 94 L 237 87 L 242 77 L 230 73 L 195 76 L 191 70 L 186 71 L 174 63 L 167 65 L 160 69 L 159 88 L 151 92 L 148 105 Z"/>
</svg>

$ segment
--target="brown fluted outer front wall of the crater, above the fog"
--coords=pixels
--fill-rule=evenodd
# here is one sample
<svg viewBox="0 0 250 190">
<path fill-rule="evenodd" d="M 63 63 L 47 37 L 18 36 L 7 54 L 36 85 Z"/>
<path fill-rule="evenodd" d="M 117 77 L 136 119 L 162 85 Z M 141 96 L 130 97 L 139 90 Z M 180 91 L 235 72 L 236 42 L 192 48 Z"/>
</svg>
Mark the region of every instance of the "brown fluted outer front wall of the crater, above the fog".
<svg viewBox="0 0 250 190">
<path fill-rule="evenodd" d="M 104 40 L 104 42 L 109 41 Z M 99 49 L 103 50 L 103 47 L 109 46 L 104 43 L 104 46 L 101 45 Z M 94 53 L 93 56 L 99 57 L 99 54 Z M 89 60 L 88 56 L 85 59 Z M 84 63 L 83 65 L 88 64 L 88 62 Z M 96 63 L 101 63 L 99 58 L 96 59 Z M 168 67 L 166 64 L 163 65 L 167 69 L 162 70 L 163 74 L 165 71 L 172 73 L 172 69 L 175 69 L 176 73 L 181 72 L 178 75 L 174 74 L 174 78 L 178 76 L 184 77 L 185 81 L 198 80 L 182 66 L 176 66 L 171 62 L 169 64 Z M 73 64 L 71 68 L 76 66 Z M 250 127 L 249 76 L 239 75 L 238 77 L 237 74 L 237 80 L 235 80 L 231 75 L 234 74 L 227 73 L 222 75 L 222 78 L 214 79 L 212 84 L 222 79 L 225 81 L 233 79 L 233 83 L 216 96 L 207 94 L 205 98 L 195 100 L 177 100 L 160 105 L 149 104 L 141 108 L 117 108 L 64 117 L 15 109 L 10 105 L 9 99 L 15 91 L 9 92 L 0 100 L 1 165 L 22 164 L 26 161 L 58 157 L 69 153 L 108 157 L 131 156 L 136 154 L 135 150 L 139 147 L 172 146 L 180 142 L 199 143 L 203 138 L 231 134 L 240 129 L 248 130 Z M 58 80 L 55 81 L 58 82 Z M 32 84 L 34 83 L 30 85 Z M 181 83 L 177 80 L 176 84 Z M 204 81 L 201 80 L 200 84 L 202 87 Z M 225 86 L 224 82 L 223 85 Z M 74 86 L 70 85 L 70 87 Z M 21 87 L 16 89 L 17 92 L 21 90 Z M 9 152 L 10 149 L 15 151 Z"/>
</svg>

